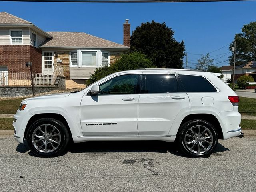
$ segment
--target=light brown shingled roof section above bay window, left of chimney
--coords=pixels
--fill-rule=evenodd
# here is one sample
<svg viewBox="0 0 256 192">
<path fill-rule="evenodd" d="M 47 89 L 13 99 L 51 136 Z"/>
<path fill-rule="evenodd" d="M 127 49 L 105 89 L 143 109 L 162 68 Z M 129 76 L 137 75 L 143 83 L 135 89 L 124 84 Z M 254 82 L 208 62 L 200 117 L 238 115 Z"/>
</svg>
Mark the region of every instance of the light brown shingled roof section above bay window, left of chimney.
<svg viewBox="0 0 256 192">
<path fill-rule="evenodd" d="M 83 32 L 47 32 L 53 38 L 46 40 L 40 47 L 59 48 L 128 48 L 122 44 L 114 43 Z"/>
</svg>

